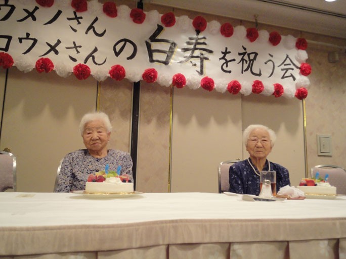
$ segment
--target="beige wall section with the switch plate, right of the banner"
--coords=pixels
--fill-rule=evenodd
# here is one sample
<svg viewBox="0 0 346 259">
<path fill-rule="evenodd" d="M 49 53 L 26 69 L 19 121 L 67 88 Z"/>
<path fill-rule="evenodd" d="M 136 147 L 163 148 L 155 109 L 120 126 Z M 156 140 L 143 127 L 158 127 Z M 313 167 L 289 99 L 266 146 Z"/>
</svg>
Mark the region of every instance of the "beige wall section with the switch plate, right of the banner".
<svg viewBox="0 0 346 259">
<path fill-rule="evenodd" d="M 306 99 L 308 168 L 323 164 L 346 168 L 346 56 L 344 50 L 330 47 L 311 44 L 309 49 L 313 74 Z M 329 51 L 337 51 L 337 63 L 328 62 Z M 331 135 L 332 157 L 318 156 L 317 134 Z"/>
</svg>

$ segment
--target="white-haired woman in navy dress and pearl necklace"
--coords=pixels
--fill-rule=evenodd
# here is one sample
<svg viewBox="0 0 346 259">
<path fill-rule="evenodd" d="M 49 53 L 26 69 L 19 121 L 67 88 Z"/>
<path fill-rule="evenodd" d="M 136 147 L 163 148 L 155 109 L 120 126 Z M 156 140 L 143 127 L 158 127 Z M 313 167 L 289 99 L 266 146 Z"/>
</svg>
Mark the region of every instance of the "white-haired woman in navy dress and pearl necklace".
<svg viewBox="0 0 346 259">
<path fill-rule="evenodd" d="M 250 125 L 244 130 L 243 143 L 250 157 L 230 167 L 230 192 L 260 194 L 261 171 L 276 171 L 277 192 L 290 185 L 288 170 L 267 159 L 275 140 L 275 132 L 264 125 Z"/>
</svg>

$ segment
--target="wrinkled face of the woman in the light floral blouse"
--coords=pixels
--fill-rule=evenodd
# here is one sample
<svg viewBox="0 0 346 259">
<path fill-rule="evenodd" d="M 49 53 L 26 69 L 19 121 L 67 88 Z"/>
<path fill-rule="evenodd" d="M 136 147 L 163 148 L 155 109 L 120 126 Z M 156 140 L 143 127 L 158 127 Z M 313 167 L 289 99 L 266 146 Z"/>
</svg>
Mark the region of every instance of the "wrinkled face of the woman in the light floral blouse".
<svg viewBox="0 0 346 259">
<path fill-rule="evenodd" d="M 85 124 L 82 137 L 88 150 L 102 151 L 107 148 L 110 132 L 107 132 L 102 120 L 95 120 Z"/>
</svg>

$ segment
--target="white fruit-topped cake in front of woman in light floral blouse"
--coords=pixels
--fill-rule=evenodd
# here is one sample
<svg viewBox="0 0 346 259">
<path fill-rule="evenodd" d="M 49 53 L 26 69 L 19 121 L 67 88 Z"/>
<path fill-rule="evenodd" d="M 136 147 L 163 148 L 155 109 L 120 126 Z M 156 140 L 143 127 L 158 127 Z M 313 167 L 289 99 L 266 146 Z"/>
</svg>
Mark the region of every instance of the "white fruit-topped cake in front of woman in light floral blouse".
<svg viewBox="0 0 346 259">
<path fill-rule="evenodd" d="M 100 171 L 88 176 L 85 183 L 86 193 L 106 193 L 106 194 L 122 194 L 133 193 L 134 184 L 127 174 L 118 175 L 114 171 Z"/>
</svg>

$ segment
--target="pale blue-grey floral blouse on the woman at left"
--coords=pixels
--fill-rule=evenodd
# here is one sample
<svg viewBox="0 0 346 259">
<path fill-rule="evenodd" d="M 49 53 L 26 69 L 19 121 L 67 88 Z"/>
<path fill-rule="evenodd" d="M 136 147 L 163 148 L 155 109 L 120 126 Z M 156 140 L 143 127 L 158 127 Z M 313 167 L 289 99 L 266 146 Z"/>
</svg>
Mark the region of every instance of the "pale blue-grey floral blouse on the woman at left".
<svg viewBox="0 0 346 259">
<path fill-rule="evenodd" d="M 94 158 L 88 149 L 79 149 L 68 153 L 60 169 L 58 186 L 55 192 L 70 192 L 74 190 L 85 190 L 85 182 L 89 174 L 105 170 L 109 165 L 109 171 L 116 171 L 121 166 L 120 174 L 128 174 L 131 181 L 132 159 L 129 153 L 120 150 L 108 149 L 104 158 Z"/>
</svg>

